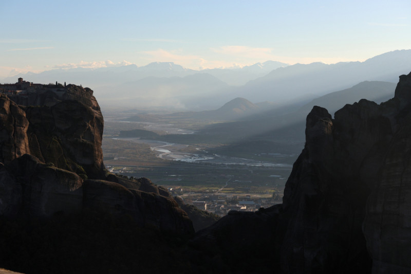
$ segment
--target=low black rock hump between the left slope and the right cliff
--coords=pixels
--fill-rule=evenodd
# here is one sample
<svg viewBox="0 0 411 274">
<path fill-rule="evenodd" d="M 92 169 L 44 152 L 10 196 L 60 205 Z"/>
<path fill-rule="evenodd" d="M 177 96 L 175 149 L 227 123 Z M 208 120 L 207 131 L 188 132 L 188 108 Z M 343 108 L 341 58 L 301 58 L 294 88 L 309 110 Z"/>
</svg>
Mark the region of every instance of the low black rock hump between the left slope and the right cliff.
<svg viewBox="0 0 411 274">
<path fill-rule="evenodd" d="M 256 212 L 230 211 L 190 241 L 191 261 L 202 273 L 277 273 L 276 227 L 282 205 Z"/>
</svg>

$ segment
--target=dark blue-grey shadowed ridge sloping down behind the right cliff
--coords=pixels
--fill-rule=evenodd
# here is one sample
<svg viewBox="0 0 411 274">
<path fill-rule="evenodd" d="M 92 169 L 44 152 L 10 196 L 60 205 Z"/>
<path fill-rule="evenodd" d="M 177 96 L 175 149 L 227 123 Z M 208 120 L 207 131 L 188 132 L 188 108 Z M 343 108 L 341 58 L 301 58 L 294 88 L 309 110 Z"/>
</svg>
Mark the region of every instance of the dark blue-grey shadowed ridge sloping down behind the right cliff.
<svg viewBox="0 0 411 274">
<path fill-rule="evenodd" d="M 273 109 L 246 117 L 235 122 L 217 123 L 202 129 L 198 135 L 207 135 L 225 147 L 214 153 L 236 156 L 237 153 L 273 152 L 296 155 L 305 142 L 307 114 L 314 105 L 328 109 L 331 115 L 344 104 L 353 104 L 361 99 L 381 103 L 394 96 L 395 83 L 365 81 L 350 88 L 316 98 L 303 106 L 290 105 L 289 109 Z M 290 163 L 295 159 L 291 158 Z"/>
</svg>

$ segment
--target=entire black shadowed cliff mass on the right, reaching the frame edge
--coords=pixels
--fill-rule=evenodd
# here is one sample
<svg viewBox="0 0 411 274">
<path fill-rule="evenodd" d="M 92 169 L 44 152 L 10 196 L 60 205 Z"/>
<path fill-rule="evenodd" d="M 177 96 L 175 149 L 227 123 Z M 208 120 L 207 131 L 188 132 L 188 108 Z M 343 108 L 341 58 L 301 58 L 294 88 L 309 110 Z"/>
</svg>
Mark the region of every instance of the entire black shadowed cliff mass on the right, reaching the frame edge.
<svg viewBox="0 0 411 274">
<path fill-rule="evenodd" d="M 411 272 L 410 157 L 411 74 L 400 76 L 395 97 L 380 105 L 363 99 L 345 105 L 334 119 L 314 106 L 283 204 L 267 209 L 272 213 L 264 222 L 271 232 L 264 237 L 271 239 L 267 258 L 273 269 Z M 217 235 L 247 219 L 252 216 L 224 217 L 193 244 L 201 246 L 206 239 L 218 244 Z"/>
</svg>

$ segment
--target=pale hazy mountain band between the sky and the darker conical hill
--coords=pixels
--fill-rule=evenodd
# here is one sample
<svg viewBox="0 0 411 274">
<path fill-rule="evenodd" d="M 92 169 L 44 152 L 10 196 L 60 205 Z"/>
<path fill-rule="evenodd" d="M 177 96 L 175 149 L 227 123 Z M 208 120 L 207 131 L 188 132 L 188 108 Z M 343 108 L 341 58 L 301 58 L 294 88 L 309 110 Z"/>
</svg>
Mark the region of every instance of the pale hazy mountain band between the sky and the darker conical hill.
<svg viewBox="0 0 411 274">
<path fill-rule="evenodd" d="M 267 61 L 242 68 L 193 70 L 172 62 L 146 66 L 52 69 L 0 79 L 25 78 L 38 83 L 70 82 L 92 88 L 102 109 L 204 111 L 241 97 L 252 103 L 287 105 L 350 88 L 363 81 L 396 83 L 410 71 L 411 49 L 395 50 L 364 62 L 289 65 Z"/>
</svg>

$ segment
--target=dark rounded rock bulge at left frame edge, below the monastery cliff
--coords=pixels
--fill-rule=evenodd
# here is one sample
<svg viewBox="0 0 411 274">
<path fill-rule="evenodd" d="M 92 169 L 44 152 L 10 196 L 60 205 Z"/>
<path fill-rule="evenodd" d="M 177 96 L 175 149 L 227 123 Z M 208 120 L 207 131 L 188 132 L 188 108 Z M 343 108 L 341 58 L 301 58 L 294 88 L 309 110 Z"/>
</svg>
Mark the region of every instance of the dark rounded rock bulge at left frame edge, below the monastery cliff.
<svg viewBox="0 0 411 274">
<path fill-rule="evenodd" d="M 0 171 L 0 212 L 3 216 L 50 217 L 57 212 L 78 213 L 83 204 L 79 175 L 42 163 L 25 154 Z"/>
</svg>

